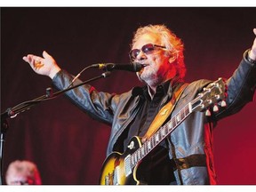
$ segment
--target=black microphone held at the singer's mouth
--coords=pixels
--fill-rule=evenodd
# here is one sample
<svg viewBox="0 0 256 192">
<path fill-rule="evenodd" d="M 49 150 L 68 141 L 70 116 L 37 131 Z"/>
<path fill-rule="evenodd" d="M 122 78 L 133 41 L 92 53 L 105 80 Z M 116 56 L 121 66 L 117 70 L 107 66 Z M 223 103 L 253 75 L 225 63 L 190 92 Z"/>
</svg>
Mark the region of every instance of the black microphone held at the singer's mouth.
<svg viewBox="0 0 256 192">
<path fill-rule="evenodd" d="M 117 63 L 99 63 L 99 64 L 93 64 L 92 68 L 99 68 L 104 69 L 106 71 L 111 70 L 125 70 L 125 71 L 131 71 L 131 72 L 138 72 L 141 68 L 145 68 L 146 64 L 140 64 L 136 62 L 132 63 L 124 63 L 124 64 L 117 64 Z"/>
</svg>

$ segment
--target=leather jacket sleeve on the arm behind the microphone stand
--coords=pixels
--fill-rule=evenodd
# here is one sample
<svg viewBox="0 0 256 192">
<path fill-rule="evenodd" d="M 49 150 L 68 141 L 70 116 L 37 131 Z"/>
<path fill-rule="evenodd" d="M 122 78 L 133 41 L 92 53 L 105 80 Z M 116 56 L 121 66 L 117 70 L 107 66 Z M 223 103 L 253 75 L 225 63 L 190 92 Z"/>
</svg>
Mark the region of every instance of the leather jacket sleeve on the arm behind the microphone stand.
<svg viewBox="0 0 256 192">
<path fill-rule="evenodd" d="M 52 84 L 58 89 L 63 90 L 71 83 L 73 76 L 69 75 L 65 70 L 52 79 Z M 74 85 L 82 83 L 76 79 Z M 108 92 L 98 92 L 90 84 L 78 86 L 65 93 L 78 108 L 82 109 L 86 114 L 105 124 L 112 124 L 114 110 L 118 103 L 118 95 Z"/>
</svg>

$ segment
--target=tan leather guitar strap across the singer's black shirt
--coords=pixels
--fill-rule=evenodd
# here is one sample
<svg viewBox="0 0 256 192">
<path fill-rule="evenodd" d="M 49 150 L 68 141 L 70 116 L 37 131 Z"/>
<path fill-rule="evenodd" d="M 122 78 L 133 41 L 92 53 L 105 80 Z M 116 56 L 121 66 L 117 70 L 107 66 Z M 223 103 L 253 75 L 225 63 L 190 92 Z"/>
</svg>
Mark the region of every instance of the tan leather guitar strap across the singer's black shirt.
<svg viewBox="0 0 256 192">
<path fill-rule="evenodd" d="M 141 141 L 143 143 L 148 140 L 161 127 L 161 125 L 164 124 L 164 121 L 167 119 L 167 117 L 171 115 L 173 108 L 175 107 L 177 101 L 180 99 L 181 93 L 187 86 L 188 84 L 182 84 L 179 88 L 177 88 L 177 91 L 175 89 L 172 95 L 172 100 L 170 100 L 166 105 L 164 105 L 163 108 L 160 109 L 152 124 L 150 124 L 148 132 L 146 132 L 142 137 Z"/>
</svg>

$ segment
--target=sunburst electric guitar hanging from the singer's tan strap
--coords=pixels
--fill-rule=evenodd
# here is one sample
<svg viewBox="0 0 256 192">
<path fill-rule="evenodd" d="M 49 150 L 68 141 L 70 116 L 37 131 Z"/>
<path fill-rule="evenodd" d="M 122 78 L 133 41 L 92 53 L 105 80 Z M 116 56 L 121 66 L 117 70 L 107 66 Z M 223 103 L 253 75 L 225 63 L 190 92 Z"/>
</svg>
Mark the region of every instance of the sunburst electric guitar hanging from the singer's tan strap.
<svg viewBox="0 0 256 192">
<path fill-rule="evenodd" d="M 225 90 L 225 83 L 220 78 L 204 88 L 196 99 L 188 102 L 177 115 L 160 127 L 144 143 L 139 137 L 132 137 L 124 154 L 113 152 L 106 158 L 100 172 L 100 185 L 140 185 L 141 182 L 137 179 L 136 172 L 143 158 L 194 111 L 206 111 L 205 115 L 211 116 L 208 108 L 213 106 L 213 111 L 217 111 L 218 102 L 221 107 L 225 107 Z"/>
</svg>

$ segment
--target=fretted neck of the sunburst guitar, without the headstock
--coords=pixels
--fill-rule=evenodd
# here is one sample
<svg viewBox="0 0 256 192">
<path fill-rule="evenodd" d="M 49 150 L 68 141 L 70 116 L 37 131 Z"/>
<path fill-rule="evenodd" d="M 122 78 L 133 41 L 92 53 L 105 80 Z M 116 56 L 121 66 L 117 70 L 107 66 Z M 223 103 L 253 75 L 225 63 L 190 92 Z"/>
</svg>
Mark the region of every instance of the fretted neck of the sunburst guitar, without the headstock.
<svg viewBox="0 0 256 192">
<path fill-rule="evenodd" d="M 180 112 L 173 116 L 166 124 L 160 127 L 140 148 L 131 155 L 132 168 L 147 156 L 156 146 L 161 143 L 181 122 L 183 122 L 192 113 L 192 104 L 189 102 Z"/>
</svg>

